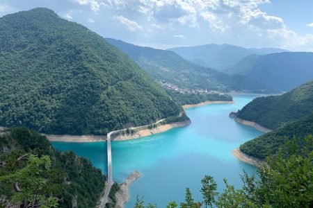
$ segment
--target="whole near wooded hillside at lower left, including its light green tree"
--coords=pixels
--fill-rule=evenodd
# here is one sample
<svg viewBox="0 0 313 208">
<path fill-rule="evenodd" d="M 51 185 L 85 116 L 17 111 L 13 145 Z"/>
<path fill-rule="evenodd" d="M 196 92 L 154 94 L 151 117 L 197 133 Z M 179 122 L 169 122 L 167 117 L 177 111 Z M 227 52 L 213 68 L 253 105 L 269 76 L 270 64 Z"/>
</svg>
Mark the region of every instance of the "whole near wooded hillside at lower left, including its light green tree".
<svg viewBox="0 0 313 208">
<path fill-rule="evenodd" d="M 105 181 L 88 159 L 55 150 L 38 132 L 0 131 L 0 207 L 96 207 Z"/>
</svg>

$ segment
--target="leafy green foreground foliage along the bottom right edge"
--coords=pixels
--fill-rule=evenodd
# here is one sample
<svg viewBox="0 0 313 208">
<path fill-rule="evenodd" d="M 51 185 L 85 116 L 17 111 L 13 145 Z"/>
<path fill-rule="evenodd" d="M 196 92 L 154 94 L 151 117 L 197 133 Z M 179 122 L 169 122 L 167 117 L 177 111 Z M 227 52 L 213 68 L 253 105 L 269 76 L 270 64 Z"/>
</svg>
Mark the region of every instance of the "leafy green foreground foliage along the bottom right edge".
<svg viewBox="0 0 313 208">
<path fill-rule="evenodd" d="M 313 207 L 313 139 L 305 139 L 306 146 L 298 148 L 296 140 L 268 157 L 267 164 L 258 167 L 257 176 L 243 173 L 243 187 L 235 189 L 225 182 L 222 193 L 216 193 L 216 182 L 206 175 L 202 180 L 203 202 L 195 202 L 191 191 L 186 189 L 186 200 L 180 207 L 196 208 L 202 205 L 229 208 Z M 205 190 L 205 191 L 204 191 Z M 135 207 L 143 206 L 143 200 Z M 151 205 L 150 205 L 151 207 Z M 176 202 L 168 207 L 177 207 Z"/>
</svg>

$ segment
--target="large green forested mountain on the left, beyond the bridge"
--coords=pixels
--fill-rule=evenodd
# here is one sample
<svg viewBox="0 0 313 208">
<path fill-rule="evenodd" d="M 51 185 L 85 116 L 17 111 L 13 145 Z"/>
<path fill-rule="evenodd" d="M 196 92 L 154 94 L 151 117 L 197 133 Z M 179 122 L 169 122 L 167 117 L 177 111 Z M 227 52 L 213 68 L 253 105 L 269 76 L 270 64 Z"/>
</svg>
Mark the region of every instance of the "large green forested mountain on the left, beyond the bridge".
<svg viewBox="0 0 313 208">
<path fill-rule="evenodd" d="M 0 125 L 105 134 L 182 110 L 127 55 L 52 10 L 0 18 Z"/>
</svg>

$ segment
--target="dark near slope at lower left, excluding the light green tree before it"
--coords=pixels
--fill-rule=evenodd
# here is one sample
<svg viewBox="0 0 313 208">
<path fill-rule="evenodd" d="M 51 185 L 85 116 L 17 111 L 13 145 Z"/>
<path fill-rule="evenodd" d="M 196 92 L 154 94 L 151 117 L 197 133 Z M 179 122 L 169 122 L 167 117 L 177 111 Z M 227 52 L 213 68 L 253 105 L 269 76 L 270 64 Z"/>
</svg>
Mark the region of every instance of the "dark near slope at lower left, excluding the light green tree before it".
<svg viewBox="0 0 313 208">
<path fill-rule="evenodd" d="M 97 200 L 104 189 L 106 177 L 99 169 L 93 167 L 88 159 L 78 157 L 72 152 L 62 153 L 55 150 L 46 137 L 27 128 L 0 131 L 0 177 L 8 176 L 24 168 L 29 154 L 38 155 L 38 157 L 48 155 L 51 160 L 51 170 L 43 176 L 47 184 L 37 190 L 38 194 L 49 193 L 61 199 L 58 201 L 58 207 L 75 207 L 75 204 L 78 207 L 96 207 Z M 18 159 L 22 155 L 24 157 Z M 24 191 L 26 187 L 23 187 L 23 182 L 30 180 L 29 177 L 31 176 L 27 175 L 26 178 L 17 179 L 22 180 L 19 186 Z M 32 186 L 35 187 L 36 184 Z M 3 196 L 12 200 L 15 193 L 12 183 L 0 182 L 0 207 L 5 202 L 2 200 Z M 31 193 L 27 194 L 31 195 Z M 3 205 L 3 207 L 6 206 Z"/>
</svg>

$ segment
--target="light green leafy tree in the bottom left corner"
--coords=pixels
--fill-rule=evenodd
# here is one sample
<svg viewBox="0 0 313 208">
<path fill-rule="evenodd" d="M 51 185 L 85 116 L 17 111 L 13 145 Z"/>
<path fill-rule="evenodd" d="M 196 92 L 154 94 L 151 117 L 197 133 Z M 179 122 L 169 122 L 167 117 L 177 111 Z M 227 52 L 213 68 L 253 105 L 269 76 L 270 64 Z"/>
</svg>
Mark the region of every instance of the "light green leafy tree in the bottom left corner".
<svg viewBox="0 0 313 208">
<path fill-rule="evenodd" d="M 15 173 L 3 175 L 0 182 L 13 184 L 15 192 L 12 200 L 19 203 L 21 207 L 57 207 L 58 200 L 47 187 L 47 174 L 51 168 L 51 160 L 47 155 L 38 157 L 29 155 L 28 162 L 24 168 Z"/>
</svg>

